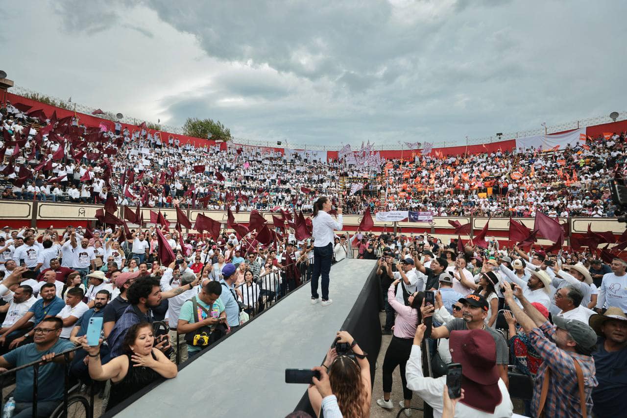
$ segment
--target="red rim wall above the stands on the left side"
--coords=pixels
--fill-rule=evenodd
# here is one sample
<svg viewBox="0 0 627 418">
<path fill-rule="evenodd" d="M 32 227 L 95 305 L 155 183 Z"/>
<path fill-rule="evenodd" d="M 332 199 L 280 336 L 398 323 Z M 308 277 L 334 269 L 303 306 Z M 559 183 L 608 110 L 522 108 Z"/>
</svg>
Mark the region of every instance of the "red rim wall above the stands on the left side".
<svg viewBox="0 0 627 418">
<path fill-rule="evenodd" d="M 66 116 L 74 115 L 73 110 L 61 109 L 60 107 L 51 106 L 45 103 L 38 102 L 37 100 L 32 100 L 26 97 L 18 96 L 16 94 L 7 93 L 6 97 L 8 100 L 11 101 L 11 103 L 23 103 L 25 105 L 33 106 L 33 109 L 31 110 L 42 109 L 45 112 L 46 116 L 48 117 L 50 117 L 52 113 L 55 112 L 55 110 L 56 110 L 56 115 L 59 119 L 66 117 Z M 114 127 L 114 123 L 112 121 L 109 121 L 108 119 L 102 119 L 101 117 L 96 117 L 94 115 L 87 115 L 87 114 L 80 113 L 80 112 L 76 112 L 76 115 L 78 115 L 78 118 L 80 119 L 80 123 L 85 124 L 85 126 L 98 126 L 101 123 L 103 123 L 103 124 L 106 124 L 108 127 L 110 127 L 110 129 L 113 129 Z M 122 130 L 124 130 L 125 127 L 129 128 L 129 131 L 131 132 L 133 132 L 133 130 L 136 131 L 138 129 L 136 125 L 122 124 Z M 150 132 L 151 134 L 154 134 L 154 132 L 159 132 L 159 131 L 156 131 L 155 129 L 147 129 L 147 131 Z M 179 141 L 181 141 L 181 144 L 191 143 L 196 147 L 203 147 L 205 145 L 213 146 L 216 144 L 216 141 L 211 141 L 209 139 L 202 139 L 202 138 L 196 138 L 192 136 L 172 134 L 171 132 L 161 131 L 162 141 L 167 141 L 167 139 L 170 136 L 173 136 L 175 139 L 178 138 Z M 220 144 L 220 149 L 226 149 L 226 142 L 222 142 Z"/>
</svg>

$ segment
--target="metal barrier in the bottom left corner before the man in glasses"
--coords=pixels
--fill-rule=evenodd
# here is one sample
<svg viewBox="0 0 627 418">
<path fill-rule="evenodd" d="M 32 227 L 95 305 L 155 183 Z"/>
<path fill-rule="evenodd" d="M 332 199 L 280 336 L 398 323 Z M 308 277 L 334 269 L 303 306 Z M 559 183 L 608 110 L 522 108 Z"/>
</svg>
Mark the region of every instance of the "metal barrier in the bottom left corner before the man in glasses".
<svg viewBox="0 0 627 418">
<path fill-rule="evenodd" d="M 73 388 L 80 387 L 80 383 L 77 385 L 70 387 L 70 353 L 80 349 L 80 346 L 76 348 L 72 348 L 71 350 L 63 351 L 63 353 L 58 353 L 53 358 L 58 358 L 63 356 L 65 358 L 65 362 L 63 363 L 63 375 L 65 376 L 65 381 L 63 382 L 64 390 L 63 390 L 63 400 L 60 402 L 58 407 L 50 414 L 52 418 L 60 418 L 60 417 L 85 417 L 91 418 L 93 417 L 93 399 L 95 396 L 95 385 L 92 384 L 92 389 L 90 390 L 90 401 L 87 402 L 87 399 L 81 395 L 69 396 L 70 392 L 72 392 Z M 20 370 L 24 370 L 26 368 L 33 368 L 33 414 L 32 417 L 36 418 L 37 414 L 37 406 L 38 406 L 38 386 L 39 386 L 39 372 L 40 367 L 50 363 L 52 360 L 47 362 L 43 360 L 37 360 L 35 362 L 26 363 L 19 367 L 12 368 L 7 370 L 4 373 L 0 373 L 0 388 L 2 390 L 2 396 L 0 396 L 0 411 L 4 409 L 4 388 L 13 384 L 12 381 L 9 381 L 13 375 L 16 375 L 17 380 L 17 372 Z"/>
</svg>

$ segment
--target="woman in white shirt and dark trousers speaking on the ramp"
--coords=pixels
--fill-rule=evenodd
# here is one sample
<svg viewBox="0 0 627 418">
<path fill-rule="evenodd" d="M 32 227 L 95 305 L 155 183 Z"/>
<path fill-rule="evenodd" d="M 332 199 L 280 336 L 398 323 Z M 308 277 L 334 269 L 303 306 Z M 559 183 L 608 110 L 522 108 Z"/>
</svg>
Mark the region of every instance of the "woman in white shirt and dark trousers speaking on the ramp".
<svg viewBox="0 0 627 418">
<path fill-rule="evenodd" d="M 312 219 L 314 238 L 314 274 L 312 274 L 312 300 L 318 303 L 318 282 L 322 274 L 322 306 L 330 305 L 329 299 L 329 271 L 333 260 L 333 230 L 342 230 L 342 208 L 337 208 L 337 222 L 329 215 L 331 201 L 326 196 L 318 198 L 314 203 L 314 215 Z"/>
</svg>

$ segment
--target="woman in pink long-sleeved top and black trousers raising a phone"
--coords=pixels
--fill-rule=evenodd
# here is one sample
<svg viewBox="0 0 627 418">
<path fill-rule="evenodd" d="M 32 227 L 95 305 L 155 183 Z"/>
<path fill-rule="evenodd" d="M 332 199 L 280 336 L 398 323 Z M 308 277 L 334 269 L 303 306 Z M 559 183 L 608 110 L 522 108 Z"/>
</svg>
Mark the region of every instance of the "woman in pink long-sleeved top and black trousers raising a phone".
<svg viewBox="0 0 627 418">
<path fill-rule="evenodd" d="M 387 302 L 396 311 L 394 319 L 394 335 L 390 345 L 387 346 L 386 356 L 383 360 L 383 399 L 377 399 L 377 405 L 385 409 L 393 409 L 394 404 L 390 400 L 392 392 L 392 373 L 396 366 L 401 367 L 401 381 L 403 382 L 403 399 L 401 408 L 411 404 L 412 391 L 407 389 L 405 378 L 405 365 L 409 360 L 411 345 L 414 341 L 416 326 L 422 321 L 420 305 L 423 303 L 424 292 L 414 292 L 409 295 L 409 306 L 405 306 L 396 300 L 396 286 L 401 279 L 394 281 L 387 289 Z M 398 292 L 403 292 L 403 284 L 398 286 Z"/>
</svg>

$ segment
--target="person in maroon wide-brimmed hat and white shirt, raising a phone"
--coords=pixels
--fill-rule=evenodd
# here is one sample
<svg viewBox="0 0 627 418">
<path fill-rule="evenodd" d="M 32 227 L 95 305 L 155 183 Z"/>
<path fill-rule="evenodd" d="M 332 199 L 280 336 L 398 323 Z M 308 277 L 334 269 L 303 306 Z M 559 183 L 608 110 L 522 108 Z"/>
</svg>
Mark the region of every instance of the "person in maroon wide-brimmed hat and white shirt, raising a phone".
<svg viewBox="0 0 627 418">
<path fill-rule="evenodd" d="M 422 350 L 424 324 L 416 327 L 411 354 L 407 362 L 407 387 L 413 390 L 433 408 L 433 416 L 440 418 L 445 412 L 450 414 L 450 406 L 445 405 L 443 391 L 447 376 L 424 377 Z M 514 404 L 507 386 L 499 376 L 496 362 L 496 347 L 492 336 L 483 330 L 452 331 L 450 335 L 453 362 L 461 365 L 461 390 L 463 399 L 455 406 L 458 417 L 511 417 Z M 447 388 L 453 389 L 453 388 Z"/>
</svg>

